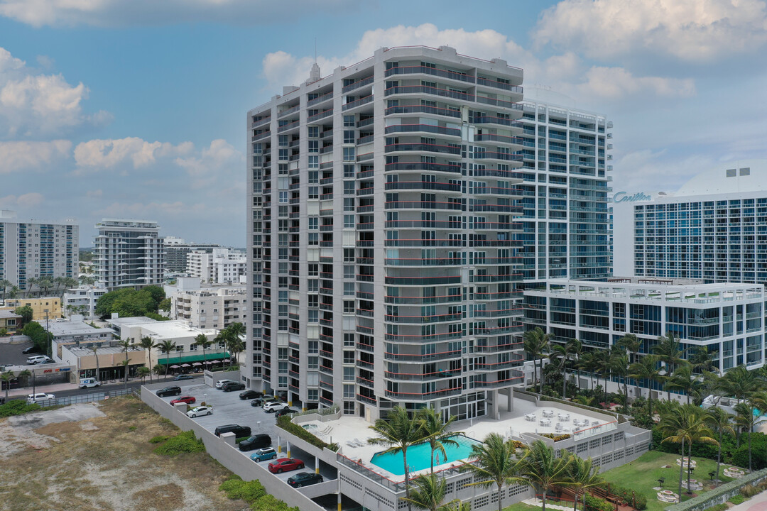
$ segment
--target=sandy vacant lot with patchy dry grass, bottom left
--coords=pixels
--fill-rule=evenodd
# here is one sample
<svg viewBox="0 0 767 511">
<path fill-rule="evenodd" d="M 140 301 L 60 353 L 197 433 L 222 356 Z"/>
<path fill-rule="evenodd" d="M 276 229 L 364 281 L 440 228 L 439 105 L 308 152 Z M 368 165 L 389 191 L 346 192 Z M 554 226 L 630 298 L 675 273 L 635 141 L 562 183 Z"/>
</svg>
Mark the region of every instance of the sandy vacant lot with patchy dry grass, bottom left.
<svg viewBox="0 0 767 511">
<path fill-rule="evenodd" d="M 229 470 L 207 454 L 152 452 L 178 431 L 136 398 L 0 419 L 0 509 L 247 508 L 219 492 Z"/>
</svg>

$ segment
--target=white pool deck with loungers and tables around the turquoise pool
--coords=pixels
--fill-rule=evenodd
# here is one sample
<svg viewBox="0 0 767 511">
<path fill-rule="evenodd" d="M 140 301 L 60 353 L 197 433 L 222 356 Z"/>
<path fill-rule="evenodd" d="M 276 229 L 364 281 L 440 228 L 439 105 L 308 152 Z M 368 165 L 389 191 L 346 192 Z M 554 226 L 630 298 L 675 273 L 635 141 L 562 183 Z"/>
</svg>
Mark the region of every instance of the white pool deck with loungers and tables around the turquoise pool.
<svg viewBox="0 0 767 511">
<path fill-rule="evenodd" d="M 597 412 L 586 412 L 586 414 L 565 411 L 560 408 L 556 402 L 545 401 L 542 406 L 536 406 L 532 401 L 515 398 L 514 410 L 506 409 L 505 400 L 499 404 L 501 408 L 500 419 L 481 418 L 466 421 L 457 421 L 453 423 L 451 431 L 454 433 L 463 433 L 467 437 L 476 441 L 484 440 L 490 433 L 502 434 L 507 439 L 522 440 L 529 443 L 533 439 L 525 438 L 525 434 L 573 434 L 573 431 L 583 431 L 580 433 L 583 437 L 590 436 L 592 433 L 600 433 L 616 427 L 614 419 L 609 414 L 597 414 Z M 543 411 L 552 411 L 553 417 L 550 418 L 551 425 L 542 426 L 540 420 Z M 569 414 L 569 421 L 560 421 L 558 414 Z M 535 414 L 535 421 L 528 421 L 525 418 L 527 414 Z M 589 421 L 588 428 L 574 427 L 573 421 Z M 599 424 L 594 424 L 597 421 Z M 569 427 L 571 431 L 556 431 L 556 424 L 561 423 L 562 427 Z M 317 431 L 310 431 L 323 441 L 328 443 L 336 442 L 341 448 L 338 450 L 345 457 L 357 461 L 364 467 L 373 470 L 381 476 L 387 477 L 393 481 L 404 480 L 404 476 L 393 474 L 387 470 L 370 463 L 373 455 L 384 450 L 384 447 L 374 444 L 368 444 L 368 439 L 374 437 L 374 431 L 370 429 L 370 423 L 364 418 L 344 416 L 334 421 L 310 421 L 302 424 L 303 426 L 313 424 Z M 444 470 L 452 466 L 462 464 L 463 460 L 455 460 L 446 464 L 440 464 L 434 467 L 434 470 Z M 426 473 L 430 469 L 420 470 L 411 473 L 411 477 L 418 473 Z"/>
</svg>

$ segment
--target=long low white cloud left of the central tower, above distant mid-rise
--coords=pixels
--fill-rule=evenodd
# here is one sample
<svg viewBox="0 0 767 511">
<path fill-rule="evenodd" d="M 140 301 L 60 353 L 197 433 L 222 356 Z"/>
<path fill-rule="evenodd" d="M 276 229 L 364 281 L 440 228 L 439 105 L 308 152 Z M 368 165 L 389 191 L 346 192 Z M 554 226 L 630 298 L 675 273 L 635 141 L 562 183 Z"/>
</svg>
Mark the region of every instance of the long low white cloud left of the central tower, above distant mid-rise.
<svg viewBox="0 0 767 511">
<path fill-rule="evenodd" d="M 77 174 L 113 169 L 129 164 L 140 169 L 157 162 L 157 159 L 186 155 L 193 150 L 192 142 L 173 146 L 170 142 L 146 142 L 130 136 L 124 139 L 94 139 L 81 142 L 74 148 Z"/>
</svg>

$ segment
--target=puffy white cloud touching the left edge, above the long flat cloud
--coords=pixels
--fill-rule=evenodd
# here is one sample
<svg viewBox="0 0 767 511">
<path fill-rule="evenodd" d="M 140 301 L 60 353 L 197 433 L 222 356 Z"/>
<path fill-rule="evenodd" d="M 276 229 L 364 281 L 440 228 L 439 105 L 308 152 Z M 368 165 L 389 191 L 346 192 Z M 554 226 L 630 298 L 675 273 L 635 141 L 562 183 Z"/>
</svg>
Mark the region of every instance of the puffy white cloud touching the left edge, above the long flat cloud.
<svg viewBox="0 0 767 511">
<path fill-rule="evenodd" d="M 61 74 L 38 74 L 0 47 L 0 138 L 56 136 L 110 122 L 107 112 L 83 112 L 87 96 L 84 84 L 73 86 Z"/>
</svg>

